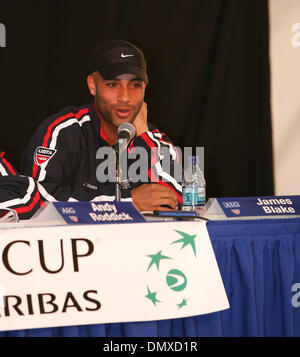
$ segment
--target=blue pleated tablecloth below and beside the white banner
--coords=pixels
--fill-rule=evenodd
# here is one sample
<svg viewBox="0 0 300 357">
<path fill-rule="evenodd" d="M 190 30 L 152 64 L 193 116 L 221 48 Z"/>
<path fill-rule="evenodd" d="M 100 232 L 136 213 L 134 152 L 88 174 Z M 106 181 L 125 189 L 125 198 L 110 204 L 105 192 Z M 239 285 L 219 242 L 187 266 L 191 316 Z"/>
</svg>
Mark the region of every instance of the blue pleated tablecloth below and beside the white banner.
<svg viewBox="0 0 300 357">
<path fill-rule="evenodd" d="M 210 221 L 231 308 L 174 320 L 0 332 L 2 337 L 300 336 L 300 219 Z M 300 298 L 299 298 L 300 300 Z"/>
</svg>

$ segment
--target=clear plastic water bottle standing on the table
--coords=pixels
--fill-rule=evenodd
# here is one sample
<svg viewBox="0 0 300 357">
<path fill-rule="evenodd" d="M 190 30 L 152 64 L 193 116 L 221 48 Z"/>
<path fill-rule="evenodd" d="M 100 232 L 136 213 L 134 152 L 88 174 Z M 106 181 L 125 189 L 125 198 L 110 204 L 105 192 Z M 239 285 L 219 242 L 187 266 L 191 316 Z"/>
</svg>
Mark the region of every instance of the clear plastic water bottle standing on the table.
<svg viewBox="0 0 300 357">
<path fill-rule="evenodd" d="M 189 165 L 182 185 L 182 210 L 198 211 L 205 205 L 205 179 L 199 167 L 199 157 L 189 156 Z"/>
</svg>

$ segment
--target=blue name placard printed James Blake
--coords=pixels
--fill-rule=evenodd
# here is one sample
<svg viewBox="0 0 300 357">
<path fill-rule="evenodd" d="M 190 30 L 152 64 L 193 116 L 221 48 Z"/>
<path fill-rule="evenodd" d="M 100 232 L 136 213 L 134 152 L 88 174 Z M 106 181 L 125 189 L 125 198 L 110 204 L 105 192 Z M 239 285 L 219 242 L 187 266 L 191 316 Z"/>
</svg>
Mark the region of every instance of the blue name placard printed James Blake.
<svg viewBox="0 0 300 357">
<path fill-rule="evenodd" d="M 226 217 L 298 216 L 300 196 L 215 198 L 209 202 L 207 213 Z"/>
</svg>

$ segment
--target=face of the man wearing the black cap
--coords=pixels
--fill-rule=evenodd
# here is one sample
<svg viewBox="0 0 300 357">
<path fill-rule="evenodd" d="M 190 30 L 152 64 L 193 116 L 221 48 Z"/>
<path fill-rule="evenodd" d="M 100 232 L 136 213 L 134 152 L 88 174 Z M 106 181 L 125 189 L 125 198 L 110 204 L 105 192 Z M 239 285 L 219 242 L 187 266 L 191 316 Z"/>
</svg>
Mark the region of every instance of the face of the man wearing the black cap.
<svg viewBox="0 0 300 357">
<path fill-rule="evenodd" d="M 94 72 L 88 77 L 88 86 L 102 119 L 115 130 L 124 122 L 132 123 L 137 116 L 144 101 L 146 83 L 133 74 L 104 80 Z"/>
</svg>

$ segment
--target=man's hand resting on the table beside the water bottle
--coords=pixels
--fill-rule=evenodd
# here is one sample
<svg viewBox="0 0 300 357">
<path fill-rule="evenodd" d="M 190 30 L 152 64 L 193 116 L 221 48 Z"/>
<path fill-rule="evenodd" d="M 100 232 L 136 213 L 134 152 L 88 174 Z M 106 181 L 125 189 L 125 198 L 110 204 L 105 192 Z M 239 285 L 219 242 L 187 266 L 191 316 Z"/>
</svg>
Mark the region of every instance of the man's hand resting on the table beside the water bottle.
<svg viewBox="0 0 300 357">
<path fill-rule="evenodd" d="M 131 197 L 140 211 L 176 211 L 178 209 L 175 193 L 169 187 L 156 183 L 143 184 L 132 189 Z"/>
</svg>

